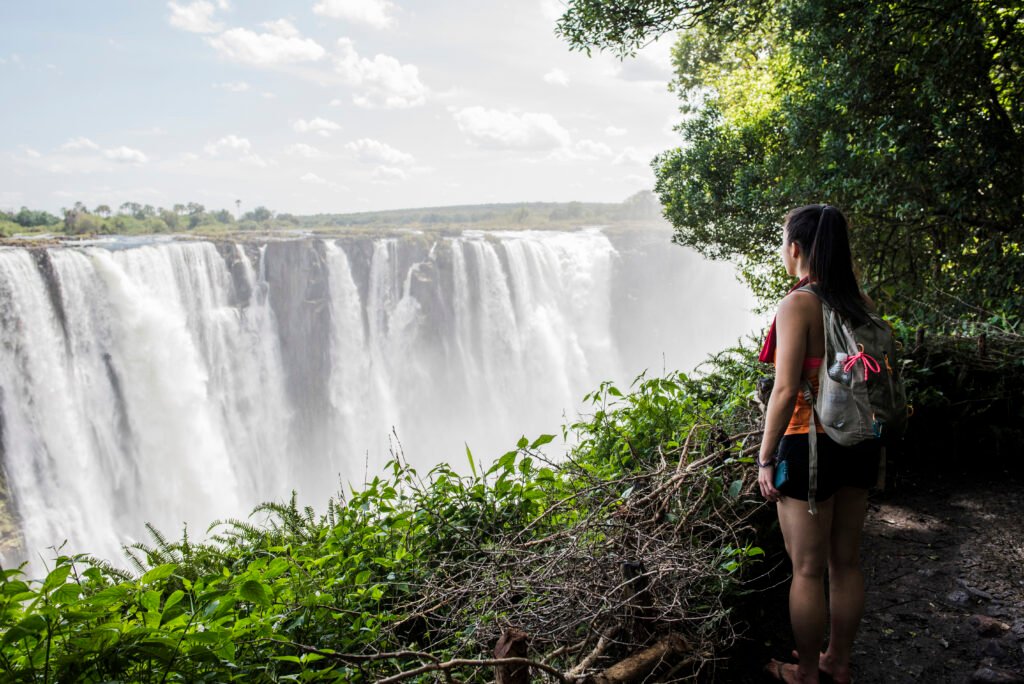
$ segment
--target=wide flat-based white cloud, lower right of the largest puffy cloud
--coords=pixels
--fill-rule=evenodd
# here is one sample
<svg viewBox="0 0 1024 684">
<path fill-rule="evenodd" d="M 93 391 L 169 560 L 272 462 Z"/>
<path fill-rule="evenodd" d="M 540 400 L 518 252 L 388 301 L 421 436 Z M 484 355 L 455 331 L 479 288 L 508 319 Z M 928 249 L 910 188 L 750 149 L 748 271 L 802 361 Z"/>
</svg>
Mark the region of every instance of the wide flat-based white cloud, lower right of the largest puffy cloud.
<svg viewBox="0 0 1024 684">
<path fill-rule="evenodd" d="M 482 147 L 550 149 L 570 142 L 569 132 L 550 114 L 467 106 L 454 110 L 453 116 L 460 130 Z"/>
</svg>

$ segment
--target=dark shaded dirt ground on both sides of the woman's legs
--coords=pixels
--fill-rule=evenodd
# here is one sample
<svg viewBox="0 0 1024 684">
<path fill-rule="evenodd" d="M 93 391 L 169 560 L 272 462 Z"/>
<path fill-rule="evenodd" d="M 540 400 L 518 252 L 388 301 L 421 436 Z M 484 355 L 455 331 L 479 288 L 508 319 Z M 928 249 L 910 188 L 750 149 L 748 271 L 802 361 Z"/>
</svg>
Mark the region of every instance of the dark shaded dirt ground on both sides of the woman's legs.
<svg viewBox="0 0 1024 684">
<path fill-rule="evenodd" d="M 871 498 L 854 681 L 1024 683 L 1024 477 L 915 471 Z M 768 681 L 768 658 L 792 660 L 787 561 L 768 562 L 774 581 L 737 615 L 744 634 L 713 681 Z"/>
</svg>

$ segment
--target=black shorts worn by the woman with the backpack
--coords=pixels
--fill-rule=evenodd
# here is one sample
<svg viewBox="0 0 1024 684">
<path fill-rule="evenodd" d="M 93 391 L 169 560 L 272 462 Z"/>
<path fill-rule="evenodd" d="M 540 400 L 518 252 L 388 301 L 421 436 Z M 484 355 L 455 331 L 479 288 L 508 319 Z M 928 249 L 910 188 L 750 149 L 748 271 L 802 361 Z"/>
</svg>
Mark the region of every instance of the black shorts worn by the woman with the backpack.
<svg viewBox="0 0 1024 684">
<path fill-rule="evenodd" d="M 841 446 L 821 432 L 818 433 L 818 493 L 817 501 L 830 499 L 844 486 L 869 489 L 879 479 L 881 446 L 876 440 L 862 441 L 853 446 Z M 807 501 L 807 435 L 783 435 L 778 442 L 776 457 L 787 461 L 790 480 L 779 491 L 784 497 Z"/>
</svg>

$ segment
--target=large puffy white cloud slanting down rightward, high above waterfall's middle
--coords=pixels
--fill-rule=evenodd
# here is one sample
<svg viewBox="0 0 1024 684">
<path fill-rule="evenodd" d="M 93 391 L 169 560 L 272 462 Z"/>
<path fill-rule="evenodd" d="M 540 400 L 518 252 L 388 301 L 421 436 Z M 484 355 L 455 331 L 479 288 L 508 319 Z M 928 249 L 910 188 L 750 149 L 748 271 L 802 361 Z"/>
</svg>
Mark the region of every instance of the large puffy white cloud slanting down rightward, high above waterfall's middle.
<svg viewBox="0 0 1024 684">
<path fill-rule="evenodd" d="M 335 70 L 348 85 L 361 89 L 352 98 L 359 106 L 403 109 L 426 101 L 427 88 L 417 67 L 387 54 L 360 57 L 348 38 L 338 40 Z"/>
</svg>

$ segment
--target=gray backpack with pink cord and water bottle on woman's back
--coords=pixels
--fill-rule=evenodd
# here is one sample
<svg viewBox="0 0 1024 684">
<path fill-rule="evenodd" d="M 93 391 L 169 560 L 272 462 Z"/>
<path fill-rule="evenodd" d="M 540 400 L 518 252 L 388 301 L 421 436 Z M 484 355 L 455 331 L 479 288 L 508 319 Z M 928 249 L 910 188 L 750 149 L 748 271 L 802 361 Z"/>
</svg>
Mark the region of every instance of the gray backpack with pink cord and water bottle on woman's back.
<svg viewBox="0 0 1024 684">
<path fill-rule="evenodd" d="M 813 514 L 817 512 L 818 486 L 816 423 L 843 446 L 869 439 L 878 439 L 885 445 L 903 435 L 907 405 L 896 361 L 896 341 L 889 324 L 868 312 L 869 323 L 854 328 L 821 298 L 814 286 L 800 289 L 813 293 L 821 301 L 825 337 L 817 397 L 810 383 L 804 387 L 804 398 L 812 409 L 807 435 L 810 462 L 807 501 Z"/>
</svg>

